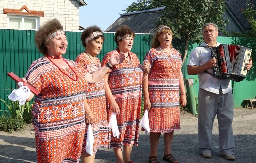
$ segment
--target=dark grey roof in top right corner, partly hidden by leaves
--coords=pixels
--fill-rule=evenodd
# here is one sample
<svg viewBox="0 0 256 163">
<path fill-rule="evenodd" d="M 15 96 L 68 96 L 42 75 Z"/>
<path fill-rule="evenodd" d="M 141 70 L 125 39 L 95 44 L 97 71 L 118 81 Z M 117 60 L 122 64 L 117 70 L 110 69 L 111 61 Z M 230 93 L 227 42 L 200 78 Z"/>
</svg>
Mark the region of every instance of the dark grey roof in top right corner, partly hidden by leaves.
<svg viewBox="0 0 256 163">
<path fill-rule="evenodd" d="M 249 22 L 245 15 L 241 12 L 241 9 L 246 8 L 246 1 L 248 0 L 225 0 L 226 10 L 229 10 L 235 19 L 243 26 L 244 29 L 249 28 Z M 249 0 L 251 3 L 256 5 L 256 0 Z"/>
</svg>

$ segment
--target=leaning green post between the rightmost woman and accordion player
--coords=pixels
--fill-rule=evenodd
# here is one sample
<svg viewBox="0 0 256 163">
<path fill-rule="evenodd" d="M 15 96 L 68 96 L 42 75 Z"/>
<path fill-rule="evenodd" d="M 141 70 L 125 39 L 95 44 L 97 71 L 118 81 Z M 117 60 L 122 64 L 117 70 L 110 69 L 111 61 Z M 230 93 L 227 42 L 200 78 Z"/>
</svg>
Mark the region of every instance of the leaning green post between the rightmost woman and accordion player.
<svg viewBox="0 0 256 163">
<path fill-rule="evenodd" d="M 186 89 L 188 94 L 188 107 L 191 114 L 196 116 L 196 100 L 195 100 L 195 94 L 194 94 L 194 81 L 192 78 L 185 79 L 186 83 Z"/>
</svg>

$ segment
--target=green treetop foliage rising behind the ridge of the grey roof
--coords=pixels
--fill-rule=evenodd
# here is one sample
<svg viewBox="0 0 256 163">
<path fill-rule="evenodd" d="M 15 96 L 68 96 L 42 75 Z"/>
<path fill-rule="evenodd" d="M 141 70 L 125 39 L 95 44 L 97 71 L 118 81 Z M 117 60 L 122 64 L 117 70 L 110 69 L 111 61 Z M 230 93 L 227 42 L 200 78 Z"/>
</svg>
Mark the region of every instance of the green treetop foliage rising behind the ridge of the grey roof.
<svg viewBox="0 0 256 163">
<path fill-rule="evenodd" d="M 163 0 L 137 0 L 137 2 L 133 2 L 126 9 L 122 11 L 126 12 L 134 12 L 134 11 L 142 11 L 148 9 L 154 9 L 163 6 Z"/>
</svg>

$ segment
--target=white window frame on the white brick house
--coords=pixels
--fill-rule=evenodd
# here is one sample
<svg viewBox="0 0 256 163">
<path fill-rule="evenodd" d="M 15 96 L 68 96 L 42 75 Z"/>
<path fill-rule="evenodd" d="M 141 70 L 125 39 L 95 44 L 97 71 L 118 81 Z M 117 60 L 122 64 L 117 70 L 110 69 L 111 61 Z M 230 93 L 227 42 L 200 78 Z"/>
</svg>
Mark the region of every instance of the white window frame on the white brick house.
<svg viewBox="0 0 256 163">
<path fill-rule="evenodd" d="M 7 15 L 7 28 L 8 29 L 18 29 L 18 28 L 10 28 L 10 18 L 21 18 L 22 20 L 22 28 L 20 30 L 38 30 L 40 27 L 40 17 L 38 16 L 26 16 L 26 15 Z M 36 29 L 26 29 L 24 27 L 24 18 L 25 19 L 36 19 Z"/>
</svg>

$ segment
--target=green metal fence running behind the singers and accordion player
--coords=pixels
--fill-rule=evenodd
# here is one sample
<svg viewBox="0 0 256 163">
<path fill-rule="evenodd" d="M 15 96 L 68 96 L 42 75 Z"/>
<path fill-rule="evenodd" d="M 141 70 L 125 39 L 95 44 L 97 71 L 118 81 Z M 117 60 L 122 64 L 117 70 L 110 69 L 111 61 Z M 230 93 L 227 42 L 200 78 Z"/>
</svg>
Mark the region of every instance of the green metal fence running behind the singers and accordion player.
<svg viewBox="0 0 256 163">
<path fill-rule="evenodd" d="M 7 95 L 11 93 L 10 90 L 16 88 L 15 82 L 11 80 L 6 74 L 8 72 L 14 72 L 20 77 L 23 77 L 30 64 L 42 56 L 38 52 L 34 36 L 36 31 L 31 30 L 9 30 L 0 29 L 0 98 L 7 100 Z M 68 48 L 65 54 L 65 58 L 75 60 L 76 56 L 84 51 L 84 47 L 80 41 L 81 32 L 66 32 L 68 40 Z M 138 55 L 140 62 L 143 62 L 143 58 L 147 51 L 150 49 L 150 39 L 152 35 L 136 34 L 134 38 L 134 44 L 132 46 L 132 52 Z M 103 48 L 98 55 L 98 58 L 102 60 L 103 56 L 116 49 L 116 43 L 114 42 L 114 33 L 104 33 L 105 41 Z M 218 42 L 228 44 L 244 45 L 246 47 L 255 48 L 256 41 L 252 38 L 235 38 L 235 37 L 218 37 Z M 174 41 L 174 48 L 182 47 L 183 41 Z M 188 58 L 190 52 L 198 46 L 191 43 L 188 48 Z M 256 59 L 255 52 L 253 51 L 252 57 Z M 188 61 L 188 59 L 187 59 Z M 189 76 L 187 74 L 187 61 L 182 67 L 184 78 L 197 78 L 197 75 Z M 255 74 L 256 69 L 252 67 L 244 81 L 239 83 L 232 82 L 235 107 L 243 106 L 244 99 L 255 98 L 256 96 L 256 81 Z M 10 89 L 10 90 L 9 90 Z M 196 96 L 198 96 L 198 83 L 194 87 Z M 0 110 L 5 110 L 4 103 L 0 102 Z M 0 117 L 2 112 L 0 112 Z"/>
</svg>

